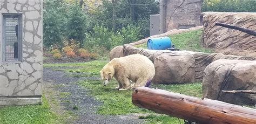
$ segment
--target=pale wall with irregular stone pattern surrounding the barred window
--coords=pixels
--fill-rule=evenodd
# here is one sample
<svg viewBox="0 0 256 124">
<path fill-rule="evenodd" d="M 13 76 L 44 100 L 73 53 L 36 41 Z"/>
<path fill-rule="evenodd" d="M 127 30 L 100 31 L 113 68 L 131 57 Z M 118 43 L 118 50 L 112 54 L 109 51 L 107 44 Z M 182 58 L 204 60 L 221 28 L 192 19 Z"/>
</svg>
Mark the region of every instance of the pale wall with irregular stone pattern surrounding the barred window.
<svg viewBox="0 0 256 124">
<path fill-rule="evenodd" d="M 0 105 L 42 101 L 42 0 L 0 1 Z M 2 14 L 22 13 L 22 60 L 2 62 Z"/>
</svg>

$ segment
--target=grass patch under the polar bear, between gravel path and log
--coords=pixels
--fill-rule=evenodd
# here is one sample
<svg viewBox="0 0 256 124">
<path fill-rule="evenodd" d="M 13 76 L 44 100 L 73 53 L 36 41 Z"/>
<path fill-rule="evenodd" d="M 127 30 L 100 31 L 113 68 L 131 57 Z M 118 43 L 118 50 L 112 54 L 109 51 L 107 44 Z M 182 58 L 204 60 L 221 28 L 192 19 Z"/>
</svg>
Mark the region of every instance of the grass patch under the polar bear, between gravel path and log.
<svg viewBox="0 0 256 124">
<path fill-rule="evenodd" d="M 132 104 L 131 90 L 118 91 L 117 89 L 113 89 L 118 86 L 115 80 L 111 80 L 107 86 L 103 86 L 101 80 L 84 80 L 79 81 L 78 84 L 89 89 L 89 93 L 97 100 L 104 102 L 98 108 L 98 114 L 120 115 L 149 112 Z"/>
</svg>

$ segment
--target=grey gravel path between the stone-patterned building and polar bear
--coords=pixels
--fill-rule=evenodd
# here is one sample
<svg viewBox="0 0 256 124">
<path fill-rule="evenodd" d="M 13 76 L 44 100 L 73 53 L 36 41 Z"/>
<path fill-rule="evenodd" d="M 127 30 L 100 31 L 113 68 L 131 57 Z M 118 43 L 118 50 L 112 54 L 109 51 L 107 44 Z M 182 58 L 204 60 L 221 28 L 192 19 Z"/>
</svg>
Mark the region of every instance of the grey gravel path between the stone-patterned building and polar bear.
<svg viewBox="0 0 256 124">
<path fill-rule="evenodd" d="M 99 115 L 95 114 L 97 106 L 102 103 L 93 99 L 92 96 L 87 94 L 87 91 L 83 87 L 79 87 L 75 82 L 84 79 L 98 79 L 99 77 L 64 77 L 65 73 L 63 71 L 55 71 L 56 69 L 61 69 L 63 67 L 44 67 L 43 68 L 43 80 L 46 82 L 44 84 L 44 93 L 47 96 L 56 95 L 56 92 L 69 92 L 70 95 L 66 97 L 58 98 L 60 102 L 60 107 L 56 108 L 60 114 L 62 114 L 60 109 L 72 111 L 78 116 L 75 121 L 69 120 L 71 123 L 141 123 L 144 120 L 138 119 L 139 114 L 129 114 L 129 115 Z M 53 92 L 53 93 L 52 93 Z M 50 101 L 51 102 L 51 101 Z M 51 103 L 50 103 L 51 104 Z M 77 106 L 78 109 L 73 109 Z"/>
</svg>

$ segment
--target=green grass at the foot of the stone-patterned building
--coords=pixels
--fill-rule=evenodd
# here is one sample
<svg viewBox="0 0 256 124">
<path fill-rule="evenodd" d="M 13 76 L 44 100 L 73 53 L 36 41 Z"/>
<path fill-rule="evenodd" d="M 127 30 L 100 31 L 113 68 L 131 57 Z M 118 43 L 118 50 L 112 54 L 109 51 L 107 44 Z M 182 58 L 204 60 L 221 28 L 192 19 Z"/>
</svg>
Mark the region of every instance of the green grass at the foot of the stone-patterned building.
<svg viewBox="0 0 256 124">
<path fill-rule="evenodd" d="M 0 107 L 0 123 L 56 123 L 58 119 L 60 116 L 50 111 L 45 97 L 43 105 Z"/>
</svg>

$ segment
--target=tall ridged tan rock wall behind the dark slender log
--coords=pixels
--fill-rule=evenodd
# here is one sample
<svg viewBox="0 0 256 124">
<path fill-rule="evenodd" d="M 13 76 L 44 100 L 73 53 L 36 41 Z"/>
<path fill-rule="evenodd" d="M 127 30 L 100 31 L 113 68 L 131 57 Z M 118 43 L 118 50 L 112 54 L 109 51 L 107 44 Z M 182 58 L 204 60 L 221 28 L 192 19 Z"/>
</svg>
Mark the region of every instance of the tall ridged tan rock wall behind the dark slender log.
<svg viewBox="0 0 256 124">
<path fill-rule="evenodd" d="M 215 22 L 256 31 L 256 12 L 204 12 L 203 43 L 224 54 L 256 57 L 256 37 L 234 29 L 214 26 Z"/>
</svg>

